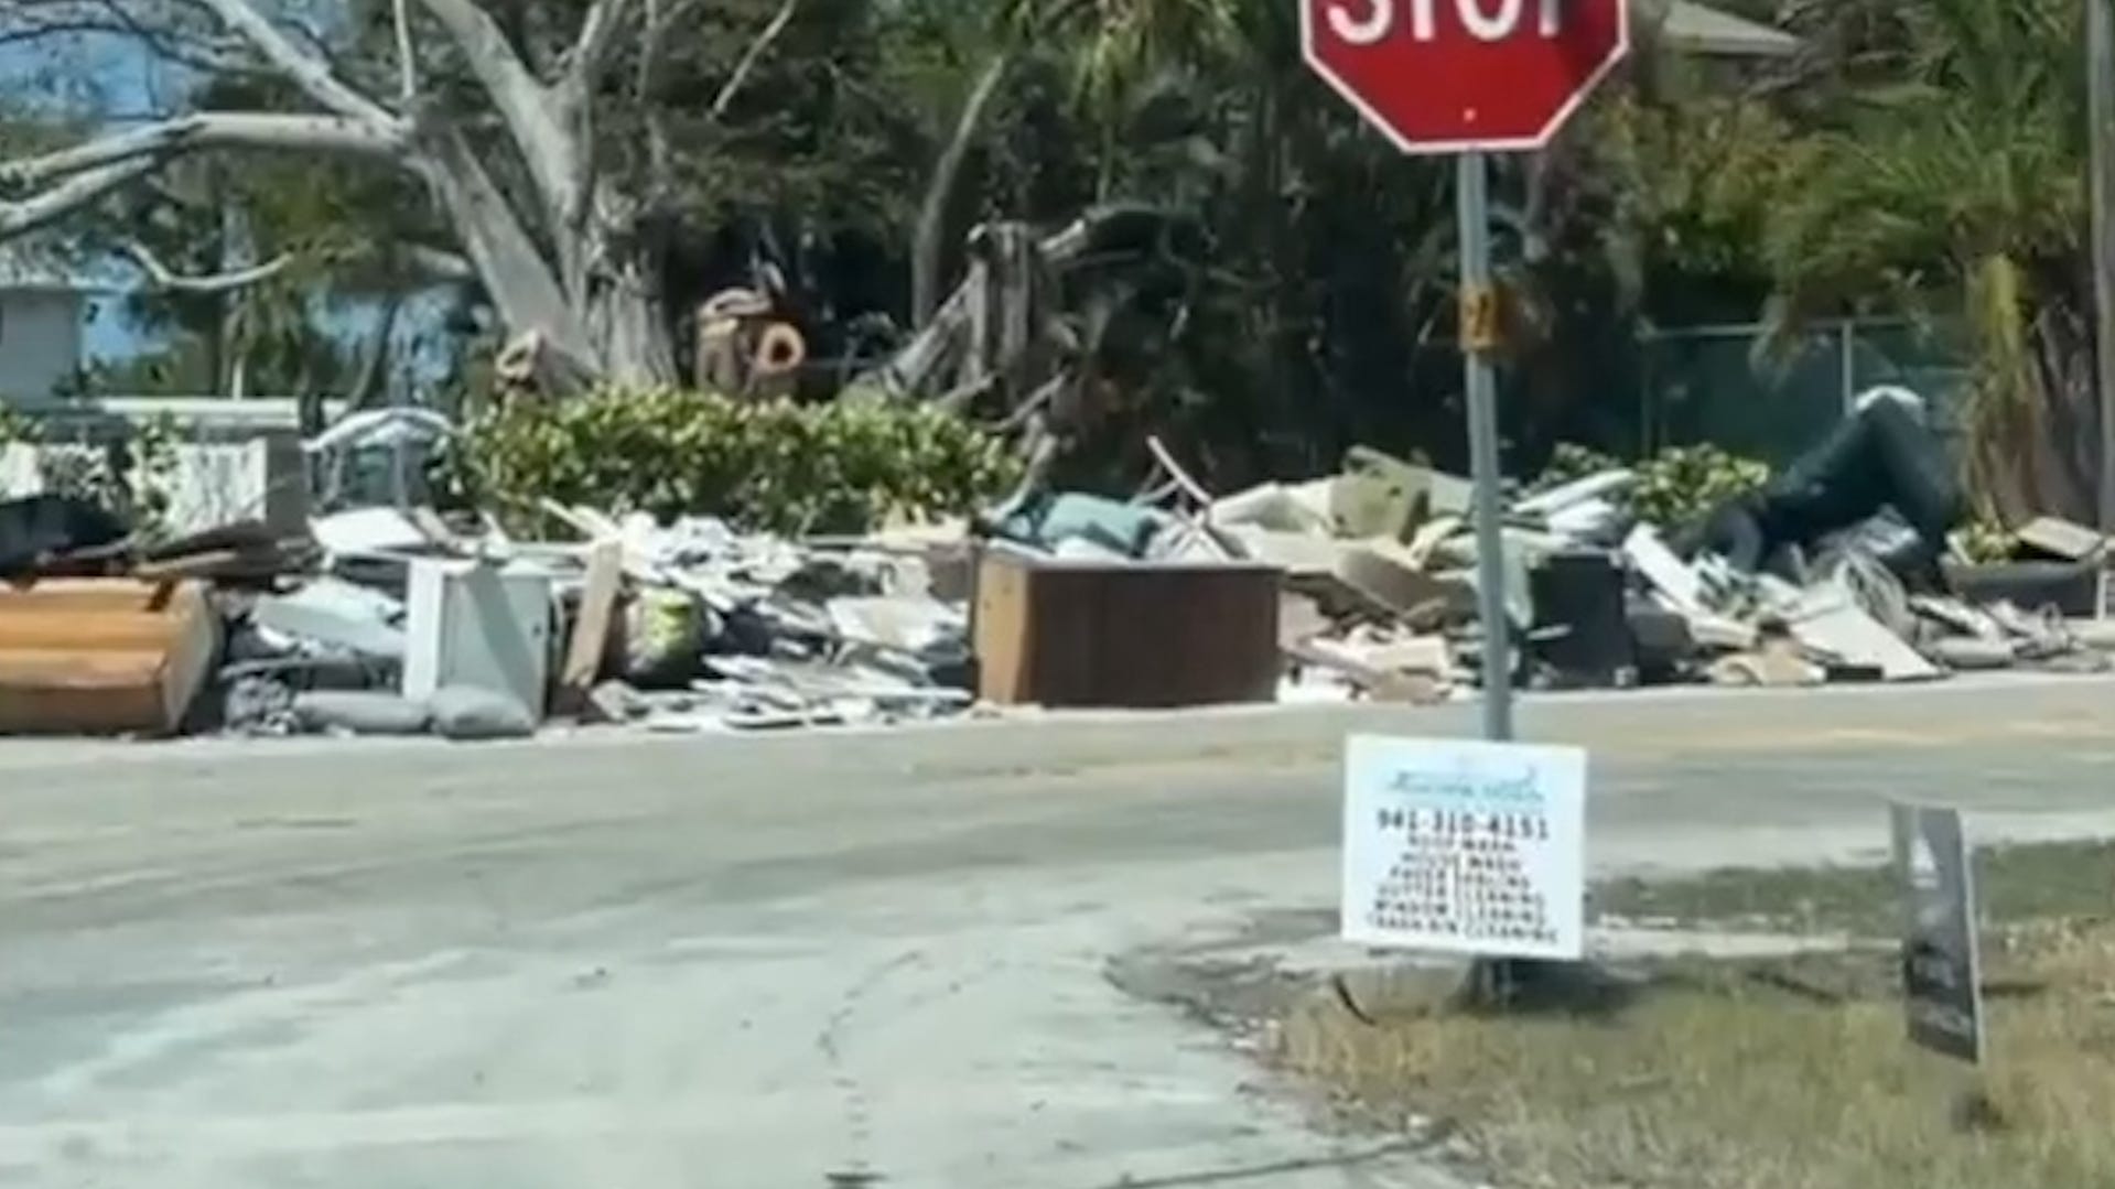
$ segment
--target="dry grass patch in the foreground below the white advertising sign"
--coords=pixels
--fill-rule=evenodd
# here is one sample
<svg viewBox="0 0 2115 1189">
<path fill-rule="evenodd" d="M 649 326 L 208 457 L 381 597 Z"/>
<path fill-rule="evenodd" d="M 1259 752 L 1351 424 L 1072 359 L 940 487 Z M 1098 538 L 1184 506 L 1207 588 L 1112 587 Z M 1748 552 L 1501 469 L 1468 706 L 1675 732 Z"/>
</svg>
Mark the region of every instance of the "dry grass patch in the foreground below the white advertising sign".
<svg viewBox="0 0 2115 1189">
<path fill-rule="evenodd" d="M 1371 1026 L 1318 999 L 1280 1056 L 1377 1117 L 1457 1128 L 1504 1185 L 2107 1189 L 2115 927 L 1994 941 L 1988 1128 L 1963 1126 L 1965 1068 L 1904 1041 L 1887 956 L 1673 965 L 1599 1018 Z"/>
</svg>

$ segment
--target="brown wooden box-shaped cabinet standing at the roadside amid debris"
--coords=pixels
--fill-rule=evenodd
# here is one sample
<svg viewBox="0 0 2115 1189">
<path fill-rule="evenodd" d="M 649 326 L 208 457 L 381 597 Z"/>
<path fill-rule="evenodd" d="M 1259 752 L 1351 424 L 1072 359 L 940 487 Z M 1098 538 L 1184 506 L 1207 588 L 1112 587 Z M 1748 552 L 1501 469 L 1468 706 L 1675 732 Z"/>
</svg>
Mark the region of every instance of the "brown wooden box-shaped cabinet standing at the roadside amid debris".
<svg viewBox="0 0 2115 1189">
<path fill-rule="evenodd" d="M 977 565 L 979 694 L 1043 707 L 1201 707 L 1277 696 L 1280 571 L 990 548 Z"/>
</svg>

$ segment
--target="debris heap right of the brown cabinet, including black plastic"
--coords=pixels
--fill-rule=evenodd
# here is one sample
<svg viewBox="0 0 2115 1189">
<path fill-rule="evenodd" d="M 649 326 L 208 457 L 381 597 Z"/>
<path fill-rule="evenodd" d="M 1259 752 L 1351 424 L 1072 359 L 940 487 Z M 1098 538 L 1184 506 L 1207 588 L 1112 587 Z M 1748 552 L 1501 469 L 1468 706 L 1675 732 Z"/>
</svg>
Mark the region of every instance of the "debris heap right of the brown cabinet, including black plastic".
<svg viewBox="0 0 2115 1189">
<path fill-rule="evenodd" d="M 2020 559 L 1956 548 L 1965 499 L 1923 402 L 1868 391 L 1796 465 L 1698 525 L 1641 523 L 1631 470 L 1514 499 L 1510 681 L 1533 688 L 2094 673 L 2107 542 L 2043 518 Z M 1212 499 L 1195 527 L 1286 573 L 1288 700 L 1436 700 L 1481 681 L 1470 484 L 1351 451 L 1339 476 Z"/>
</svg>

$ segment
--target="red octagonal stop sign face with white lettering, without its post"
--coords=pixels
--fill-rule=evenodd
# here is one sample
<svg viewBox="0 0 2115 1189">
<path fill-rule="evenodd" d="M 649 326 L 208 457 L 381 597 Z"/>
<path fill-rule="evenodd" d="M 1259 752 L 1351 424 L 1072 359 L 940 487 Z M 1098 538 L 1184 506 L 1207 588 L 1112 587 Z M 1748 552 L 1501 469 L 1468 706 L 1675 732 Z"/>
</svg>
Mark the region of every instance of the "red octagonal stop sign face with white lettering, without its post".
<svg viewBox="0 0 2115 1189">
<path fill-rule="evenodd" d="M 1542 148 L 1631 47 L 1626 0 L 1299 0 L 1301 53 L 1404 152 Z"/>
</svg>

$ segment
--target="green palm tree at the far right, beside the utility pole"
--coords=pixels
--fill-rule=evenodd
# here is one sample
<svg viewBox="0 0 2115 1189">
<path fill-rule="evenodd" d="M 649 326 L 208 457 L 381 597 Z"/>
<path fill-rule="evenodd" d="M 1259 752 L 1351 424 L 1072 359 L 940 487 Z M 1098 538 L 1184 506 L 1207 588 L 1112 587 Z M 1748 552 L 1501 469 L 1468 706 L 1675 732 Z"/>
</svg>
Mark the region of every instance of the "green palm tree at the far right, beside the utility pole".
<svg viewBox="0 0 2115 1189">
<path fill-rule="evenodd" d="M 1770 220 L 1777 313 L 1958 311 L 1986 512 L 2094 508 L 2079 0 L 1817 2 L 1849 112 Z"/>
</svg>

